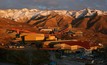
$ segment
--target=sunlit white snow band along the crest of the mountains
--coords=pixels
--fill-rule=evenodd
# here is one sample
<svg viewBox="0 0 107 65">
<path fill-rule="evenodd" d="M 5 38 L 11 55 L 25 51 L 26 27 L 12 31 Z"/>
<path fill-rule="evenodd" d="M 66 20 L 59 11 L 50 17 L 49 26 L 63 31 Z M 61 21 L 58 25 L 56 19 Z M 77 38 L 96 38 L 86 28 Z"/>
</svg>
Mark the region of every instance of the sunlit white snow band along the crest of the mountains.
<svg viewBox="0 0 107 65">
<path fill-rule="evenodd" d="M 42 16 L 47 16 L 54 11 L 59 15 L 67 15 L 73 16 L 74 18 L 80 18 L 85 16 L 92 16 L 94 13 L 98 15 L 106 15 L 107 12 L 101 10 L 91 10 L 89 8 L 80 10 L 80 11 L 67 11 L 67 10 L 38 10 L 38 9 L 7 9 L 7 10 L 0 10 L 0 17 L 2 18 L 9 18 L 14 21 L 18 22 L 25 22 L 37 14 Z"/>
</svg>

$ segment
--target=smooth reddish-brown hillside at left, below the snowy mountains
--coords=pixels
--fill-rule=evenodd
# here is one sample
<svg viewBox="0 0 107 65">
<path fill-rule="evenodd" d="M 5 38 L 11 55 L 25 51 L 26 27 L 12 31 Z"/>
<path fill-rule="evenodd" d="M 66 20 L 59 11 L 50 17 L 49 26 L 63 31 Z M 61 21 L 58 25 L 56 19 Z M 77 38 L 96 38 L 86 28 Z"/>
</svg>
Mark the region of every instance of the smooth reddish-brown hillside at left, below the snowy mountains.
<svg viewBox="0 0 107 65">
<path fill-rule="evenodd" d="M 6 18 L 0 18 L 0 44 L 4 43 L 7 44 L 11 41 L 14 34 L 9 34 L 8 30 L 11 30 L 12 28 L 16 29 L 23 29 L 35 32 L 36 28 L 33 28 L 29 24 L 26 23 L 17 23 L 13 20 L 6 19 Z"/>
</svg>

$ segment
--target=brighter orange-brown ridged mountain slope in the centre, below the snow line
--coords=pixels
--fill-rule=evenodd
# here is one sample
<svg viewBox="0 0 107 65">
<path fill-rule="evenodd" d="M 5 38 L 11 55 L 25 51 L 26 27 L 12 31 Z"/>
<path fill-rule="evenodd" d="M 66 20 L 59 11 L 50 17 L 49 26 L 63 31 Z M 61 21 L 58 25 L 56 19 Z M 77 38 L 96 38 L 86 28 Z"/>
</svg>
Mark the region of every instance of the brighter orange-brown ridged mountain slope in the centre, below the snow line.
<svg viewBox="0 0 107 65">
<path fill-rule="evenodd" d="M 71 16 L 59 15 L 52 12 L 50 15 L 37 15 L 31 18 L 27 23 L 37 27 L 64 27 L 70 24 L 74 18 Z"/>
</svg>

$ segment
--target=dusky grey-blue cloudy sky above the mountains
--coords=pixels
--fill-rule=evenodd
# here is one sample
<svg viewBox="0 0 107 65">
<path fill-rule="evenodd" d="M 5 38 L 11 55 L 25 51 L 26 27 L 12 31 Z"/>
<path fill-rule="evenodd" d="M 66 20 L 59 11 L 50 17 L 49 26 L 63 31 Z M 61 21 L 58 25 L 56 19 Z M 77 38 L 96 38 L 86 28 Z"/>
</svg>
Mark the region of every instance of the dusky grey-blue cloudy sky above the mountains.
<svg viewBox="0 0 107 65">
<path fill-rule="evenodd" d="M 0 0 L 0 9 L 19 8 L 107 10 L 107 0 Z"/>
</svg>

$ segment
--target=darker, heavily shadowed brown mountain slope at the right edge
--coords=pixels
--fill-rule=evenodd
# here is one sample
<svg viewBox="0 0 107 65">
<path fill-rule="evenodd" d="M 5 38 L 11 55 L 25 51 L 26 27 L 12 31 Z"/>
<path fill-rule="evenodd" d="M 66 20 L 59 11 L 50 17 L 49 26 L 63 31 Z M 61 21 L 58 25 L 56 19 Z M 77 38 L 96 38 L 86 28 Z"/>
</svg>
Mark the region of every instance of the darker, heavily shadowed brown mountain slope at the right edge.
<svg viewBox="0 0 107 65">
<path fill-rule="evenodd" d="M 72 21 L 72 25 L 76 28 L 91 29 L 95 32 L 107 34 L 107 15 L 98 16 L 95 14 L 92 17 L 84 17 Z"/>
</svg>

